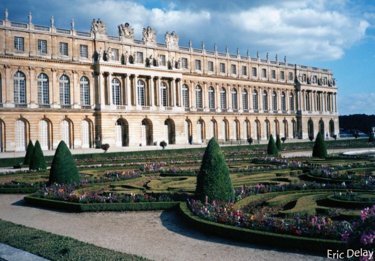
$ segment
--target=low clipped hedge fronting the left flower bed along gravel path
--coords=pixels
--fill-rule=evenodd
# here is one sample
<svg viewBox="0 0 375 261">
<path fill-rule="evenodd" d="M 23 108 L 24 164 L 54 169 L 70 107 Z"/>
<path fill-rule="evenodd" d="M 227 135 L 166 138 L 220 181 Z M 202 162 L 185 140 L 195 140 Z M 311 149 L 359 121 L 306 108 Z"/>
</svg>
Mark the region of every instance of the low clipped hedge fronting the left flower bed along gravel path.
<svg viewBox="0 0 375 261">
<path fill-rule="evenodd" d="M 73 212 L 159 210 L 174 207 L 179 203 L 179 201 L 139 203 L 72 203 L 40 198 L 33 195 L 27 195 L 23 199 L 28 204 L 35 204 L 43 207 L 57 208 Z"/>
</svg>

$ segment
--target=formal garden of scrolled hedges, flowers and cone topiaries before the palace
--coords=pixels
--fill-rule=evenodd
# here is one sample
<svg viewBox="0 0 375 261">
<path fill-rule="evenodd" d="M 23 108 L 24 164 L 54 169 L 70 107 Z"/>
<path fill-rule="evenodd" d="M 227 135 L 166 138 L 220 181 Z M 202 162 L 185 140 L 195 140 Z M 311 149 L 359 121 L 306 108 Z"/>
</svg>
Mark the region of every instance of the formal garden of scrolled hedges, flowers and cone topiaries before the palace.
<svg viewBox="0 0 375 261">
<path fill-rule="evenodd" d="M 38 142 L 25 158 L 0 165 L 0 193 L 29 193 L 28 204 L 68 211 L 175 208 L 201 231 L 277 248 L 326 254 L 373 249 L 375 159 L 327 154 L 372 147 L 367 139 L 71 155 L 60 142 L 44 157 Z M 313 157 L 282 157 L 312 149 Z M 23 169 L 23 168 L 22 168 Z M 142 212 L 139 212 L 141 215 Z"/>
</svg>

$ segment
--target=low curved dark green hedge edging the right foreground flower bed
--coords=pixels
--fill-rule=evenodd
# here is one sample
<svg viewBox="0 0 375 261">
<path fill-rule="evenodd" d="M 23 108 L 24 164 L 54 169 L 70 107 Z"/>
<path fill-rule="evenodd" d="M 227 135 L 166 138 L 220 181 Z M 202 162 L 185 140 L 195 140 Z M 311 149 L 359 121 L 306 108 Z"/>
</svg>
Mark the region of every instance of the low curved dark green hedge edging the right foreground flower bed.
<svg viewBox="0 0 375 261">
<path fill-rule="evenodd" d="M 186 202 L 179 203 L 178 210 L 184 221 L 194 228 L 198 229 L 199 231 L 213 233 L 235 240 L 263 244 L 270 247 L 293 250 L 298 249 L 322 255 L 326 255 L 327 249 L 344 250 L 346 247 L 343 241 L 338 240 L 277 234 L 204 220 L 195 216 L 188 209 Z"/>
</svg>

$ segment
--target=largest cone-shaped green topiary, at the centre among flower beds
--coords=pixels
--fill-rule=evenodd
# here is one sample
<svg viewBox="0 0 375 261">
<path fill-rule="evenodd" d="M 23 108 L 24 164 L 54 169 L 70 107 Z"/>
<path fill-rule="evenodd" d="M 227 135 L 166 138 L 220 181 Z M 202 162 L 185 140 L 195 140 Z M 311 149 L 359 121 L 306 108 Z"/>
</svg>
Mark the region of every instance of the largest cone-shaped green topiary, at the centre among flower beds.
<svg viewBox="0 0 375 261">
<path fill-rule="evenodd" d="M 224 155 L 215 138 L 211 138 L 205 148 L 202 164 L 196 177 L 195 195 L 209 202 L 229 201 L 234 199 L 229 169 L 226 166 Z"/>
</svg>

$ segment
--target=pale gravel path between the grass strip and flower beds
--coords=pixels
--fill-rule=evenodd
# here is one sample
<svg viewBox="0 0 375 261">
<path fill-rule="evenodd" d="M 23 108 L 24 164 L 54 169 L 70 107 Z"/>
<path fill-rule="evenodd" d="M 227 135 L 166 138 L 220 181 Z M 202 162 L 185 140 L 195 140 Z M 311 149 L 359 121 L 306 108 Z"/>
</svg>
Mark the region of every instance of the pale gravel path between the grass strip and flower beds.
<svg viewBox="0 0 375 261">
<path fill-rule="evenodd" d="M 24 205 L 0 194 L 0 218 L 154 260 L 322 260 L 207 235 L 180 223 L 174 210 L 69 213 Z"/>
</svg>

